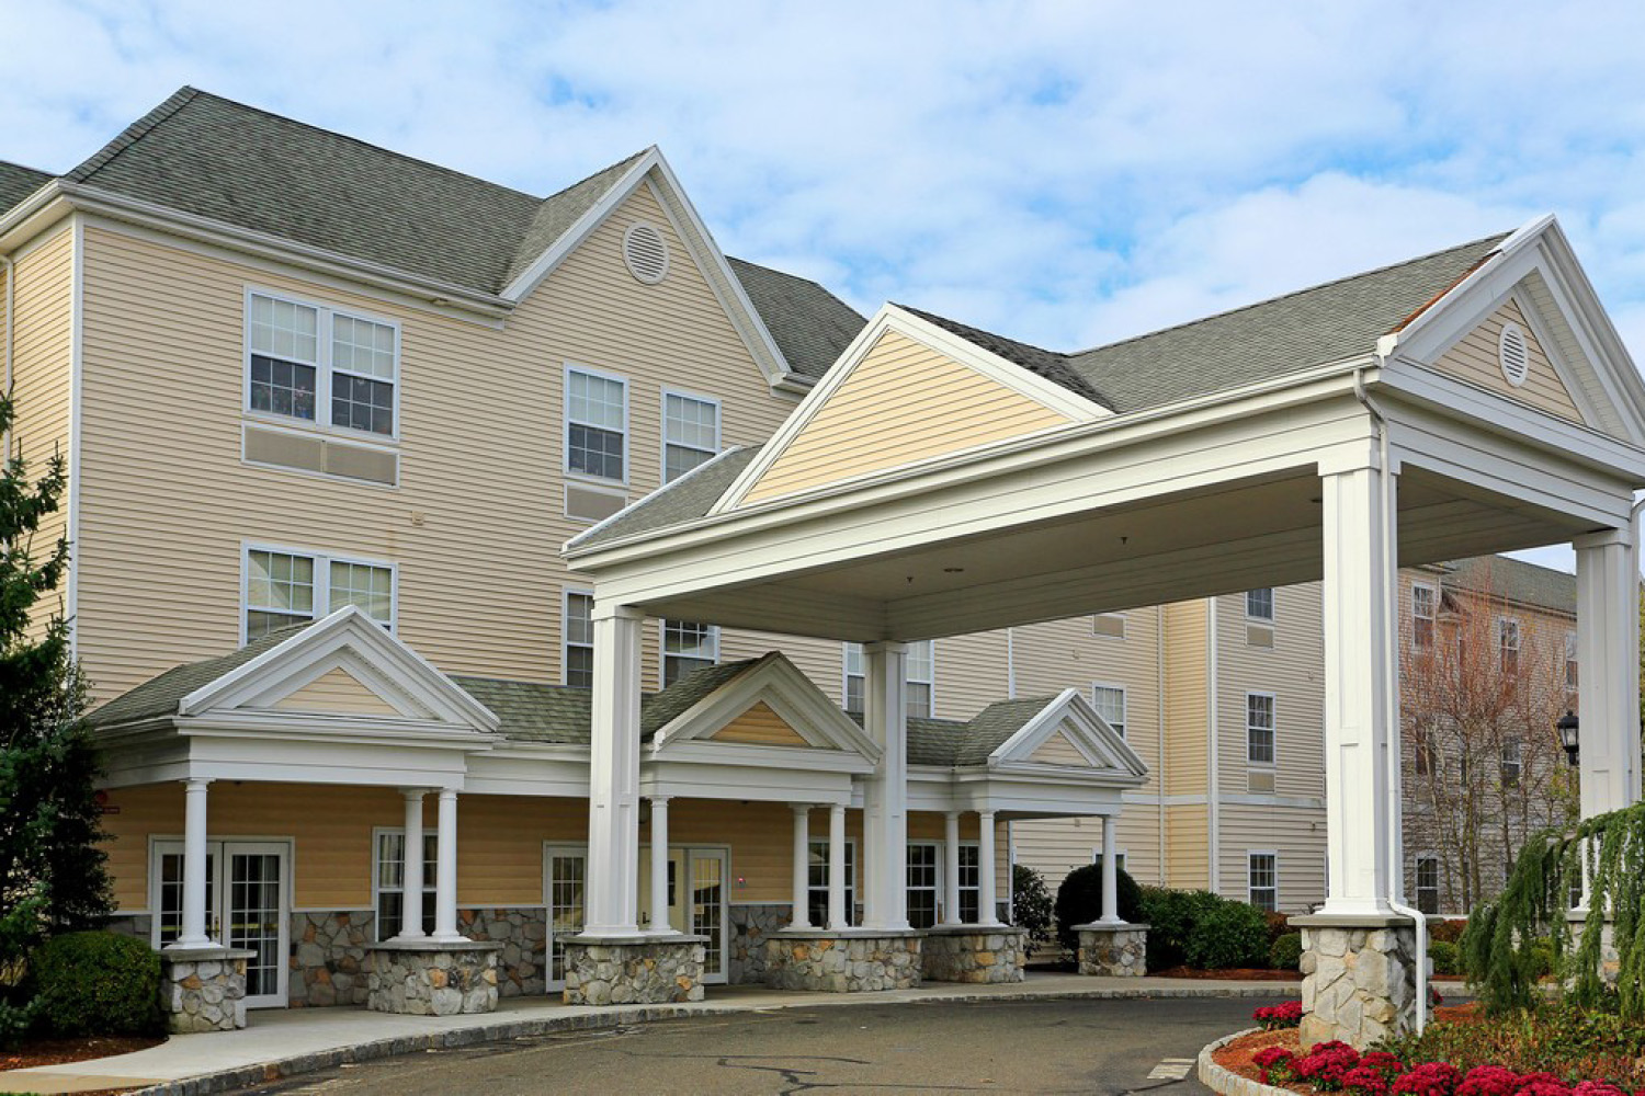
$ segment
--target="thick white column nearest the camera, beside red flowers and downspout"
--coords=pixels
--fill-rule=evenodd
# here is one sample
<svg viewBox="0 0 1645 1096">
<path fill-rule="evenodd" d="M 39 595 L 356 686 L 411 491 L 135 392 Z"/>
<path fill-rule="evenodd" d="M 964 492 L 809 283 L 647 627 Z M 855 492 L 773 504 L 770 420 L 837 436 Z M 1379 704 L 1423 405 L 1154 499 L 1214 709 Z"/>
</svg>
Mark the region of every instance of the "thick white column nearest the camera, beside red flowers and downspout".
<svg viewBox="0 0 1645 1096">
<path fill-rule="evenodd" d="M 1331 877 L 1321 914 L 1387 915 L 1395 881 L 1388 850 L 1398 818 L 1388 804 L 1392 664 L 1385 595 L 1382 475 L 1352 468 L 1321 477 L 1324 503 L 1326 846 Z M 1392 495 L 1392 491 L 1390 491 Z M 1388 516 L 1393 521 L 1393 514 Z M 1393 529 L 1387 531 L 1393 542 Z M 1397 758 L 1398 754 L 1395 754 Z"/>
</svg>

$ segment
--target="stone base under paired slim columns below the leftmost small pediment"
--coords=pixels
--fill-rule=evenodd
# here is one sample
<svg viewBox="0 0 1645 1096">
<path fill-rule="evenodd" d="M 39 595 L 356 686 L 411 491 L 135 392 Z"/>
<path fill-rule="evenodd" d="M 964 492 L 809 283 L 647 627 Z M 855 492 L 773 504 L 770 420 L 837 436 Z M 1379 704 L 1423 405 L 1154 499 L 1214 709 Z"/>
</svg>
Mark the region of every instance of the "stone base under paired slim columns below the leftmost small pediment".
<svg viewBox="0 0 1645 1096">
<path fill-rule="evenodd" d="M 497 1009 L 500 943 L 383 940 L 367 951 L 365 1007 L 405 1015 L 467 1015 Z"/>
</svg>

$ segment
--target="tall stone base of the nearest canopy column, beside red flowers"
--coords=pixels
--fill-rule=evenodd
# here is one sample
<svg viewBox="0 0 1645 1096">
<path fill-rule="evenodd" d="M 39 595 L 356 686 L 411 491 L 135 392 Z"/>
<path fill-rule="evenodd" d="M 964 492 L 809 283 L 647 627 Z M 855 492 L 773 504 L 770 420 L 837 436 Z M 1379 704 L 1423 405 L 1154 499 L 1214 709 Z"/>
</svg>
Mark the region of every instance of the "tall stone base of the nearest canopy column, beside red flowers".
<svg viewBox="0 0 1645 1096">
<path fill-rule="evenodd" d="M 1365 1050 L 1416 1025 L 1416 927 L 1408 917 L 1316 914 L 1291 925 L 1303 930 L 1303 1047 L 1341 1038 Z"/>
</svg>

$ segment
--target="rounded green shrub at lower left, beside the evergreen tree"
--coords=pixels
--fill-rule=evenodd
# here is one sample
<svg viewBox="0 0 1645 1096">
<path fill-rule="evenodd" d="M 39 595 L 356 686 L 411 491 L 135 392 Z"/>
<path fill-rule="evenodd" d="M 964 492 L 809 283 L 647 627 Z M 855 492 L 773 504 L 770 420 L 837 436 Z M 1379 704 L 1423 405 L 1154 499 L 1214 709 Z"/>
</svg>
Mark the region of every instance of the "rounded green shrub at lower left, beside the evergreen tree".
<svg viewBox="0 0 1645 1096">
<path fill-rule="evenodd" d="M 41 1025 L 51 1035 L 161 1030 L 160 953 L 133 937 L 71 932 L 30 956 Z"/>
</svg>

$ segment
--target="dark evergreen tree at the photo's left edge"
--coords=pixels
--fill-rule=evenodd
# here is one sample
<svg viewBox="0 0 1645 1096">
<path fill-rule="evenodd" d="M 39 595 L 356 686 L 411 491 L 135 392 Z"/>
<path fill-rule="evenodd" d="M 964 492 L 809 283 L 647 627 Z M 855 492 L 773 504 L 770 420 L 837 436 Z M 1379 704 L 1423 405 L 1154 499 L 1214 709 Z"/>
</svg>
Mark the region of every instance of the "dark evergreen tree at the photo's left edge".
<svg viewBox="0 0 1645 1096">
<path fill-rule="evenodd" d="M 69 546 L 36 546 L 67 485 L 61 455 L 38 483 L 12 439 L 0 398 L 0 983 L 46 937 L 94 927 L 110 912 L 94 779 L 97 758 L 81 715 L 86 688 L 67 624 L 35 626 L 36 605 L 63 580 Z M 10 978 L 8 978 L 10 974 Z"/>
</svg>

